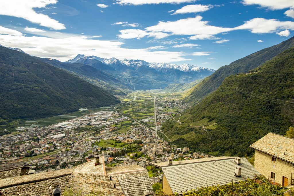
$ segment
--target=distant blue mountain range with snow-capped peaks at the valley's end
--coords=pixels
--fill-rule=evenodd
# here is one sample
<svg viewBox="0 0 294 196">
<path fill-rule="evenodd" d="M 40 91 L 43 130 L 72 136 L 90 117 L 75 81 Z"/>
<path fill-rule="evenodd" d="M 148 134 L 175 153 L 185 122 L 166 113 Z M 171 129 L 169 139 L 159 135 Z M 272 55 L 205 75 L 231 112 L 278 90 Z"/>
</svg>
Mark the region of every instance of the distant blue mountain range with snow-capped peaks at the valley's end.
<svg viewBox="0 0 294 196">
<path fill-rule="evenodd" d="M 111 75 L 116 78 L 118 82 L 115 84 L 120 89 L 129 90 L 160 89 L 173 83 L 189 83 L 205 78 L 214 72 L 213 69 L 187 64 L 148 63 L 143 60 L 119 60 L 81 54 L 63 63 L 91 66 L 103 75 Z M 54 63 L 51 64 L 54 65 Z M 65 68 L 65 66 L 63 67 Z M 103 81 L 99 77 L 97 79 Z M 104 80 L 104 82 L 108 81 Z"/>
</svg>

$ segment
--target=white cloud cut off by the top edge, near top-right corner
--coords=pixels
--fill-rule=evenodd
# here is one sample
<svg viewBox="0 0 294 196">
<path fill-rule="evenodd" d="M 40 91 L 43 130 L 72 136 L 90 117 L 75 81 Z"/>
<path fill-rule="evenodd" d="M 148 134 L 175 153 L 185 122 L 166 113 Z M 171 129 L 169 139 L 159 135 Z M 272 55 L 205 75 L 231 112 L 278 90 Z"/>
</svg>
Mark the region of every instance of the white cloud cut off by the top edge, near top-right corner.
<svg viewBox="0 0 294 196">
<path fill-rule="evenodd" d="M 260 5 L 272 10 L 285 9 L 294 6 L 293 0 L 243 0 L 244 5 Z"/>
</svg>

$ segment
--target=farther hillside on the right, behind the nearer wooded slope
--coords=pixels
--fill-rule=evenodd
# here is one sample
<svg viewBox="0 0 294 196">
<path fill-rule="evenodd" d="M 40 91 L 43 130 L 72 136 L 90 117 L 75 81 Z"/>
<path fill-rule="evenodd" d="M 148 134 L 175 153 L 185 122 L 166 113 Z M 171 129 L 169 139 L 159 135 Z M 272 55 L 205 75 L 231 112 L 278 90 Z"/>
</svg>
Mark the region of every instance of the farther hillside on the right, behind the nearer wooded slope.
<svg viewBox="0 0 294 196">
<path fill-rule="evenodd" d="M 224 79 L 230 75 L 237 73 L 246 73 L 254 69 L 265 61 L 277 56 L 279 53 L 290 49 L 294 46 L 294 37 L 279 43 L 278 45 L 265 48 L 244 58 L 241 58 L 229 65 L 220 67 L 211 76 L 205 78 L 201 83 L 186 92 L 185 100 L 192 103 L 199 102 L 202 98 L 213 92 Z"/>
</svg>

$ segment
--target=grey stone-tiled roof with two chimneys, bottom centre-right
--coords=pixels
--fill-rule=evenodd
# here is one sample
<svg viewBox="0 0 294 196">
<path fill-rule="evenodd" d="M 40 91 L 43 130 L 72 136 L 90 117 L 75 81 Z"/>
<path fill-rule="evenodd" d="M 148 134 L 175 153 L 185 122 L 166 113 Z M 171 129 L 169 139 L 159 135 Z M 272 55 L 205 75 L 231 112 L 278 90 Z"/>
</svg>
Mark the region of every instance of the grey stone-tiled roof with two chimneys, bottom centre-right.
<svg viewBox="0 0 294 196">
<path fill-rule="evenodd" d="M 245 159 L 241 158 L 241 176 L 235 176 L 234 157 L 205 158 L 196 162 L 181 161 L 182 164 L 161 166 L 173 193 L 197 190 L 200 187 L 225 185 L 227 183 L 253 179 L 259 172 Z M 162 164 L 161 164 L 162 165 Z"/>
</svg>

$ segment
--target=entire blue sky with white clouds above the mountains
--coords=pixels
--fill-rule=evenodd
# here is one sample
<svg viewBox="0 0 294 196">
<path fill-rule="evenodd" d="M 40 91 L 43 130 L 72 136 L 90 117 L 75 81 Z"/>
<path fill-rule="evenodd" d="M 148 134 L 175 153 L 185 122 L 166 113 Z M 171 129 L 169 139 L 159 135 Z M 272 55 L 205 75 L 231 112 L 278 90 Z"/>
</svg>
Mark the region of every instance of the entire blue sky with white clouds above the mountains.
<svg viewBox="0 0 294 196">
<path fill-rule="evenodd" d="M 1 0 L 0 44 L 217 69 L 290 38 L 293 0 Z"/>
</svg>

